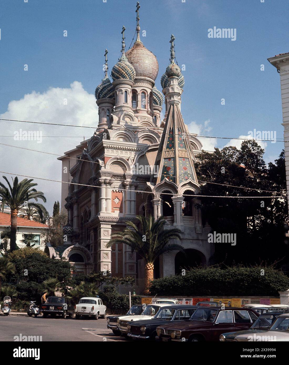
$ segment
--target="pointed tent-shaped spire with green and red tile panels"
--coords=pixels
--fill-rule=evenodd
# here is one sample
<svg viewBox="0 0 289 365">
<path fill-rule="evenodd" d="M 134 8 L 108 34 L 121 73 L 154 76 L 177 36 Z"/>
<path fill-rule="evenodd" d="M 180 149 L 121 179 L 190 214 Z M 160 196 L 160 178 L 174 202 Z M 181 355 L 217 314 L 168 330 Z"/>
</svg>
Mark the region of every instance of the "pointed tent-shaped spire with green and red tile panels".
<svg viewBox="0 0 289 365">
<path fill-rule="evenodd" d="M 194 161 L 193 149 L 179 105 L 171 104 L 155 161 L 159 174 L 152 177 L 151 182 L 159 184 L 167 178 L 176 185 L 189 179 L 198 183 Z"/>
</svg>

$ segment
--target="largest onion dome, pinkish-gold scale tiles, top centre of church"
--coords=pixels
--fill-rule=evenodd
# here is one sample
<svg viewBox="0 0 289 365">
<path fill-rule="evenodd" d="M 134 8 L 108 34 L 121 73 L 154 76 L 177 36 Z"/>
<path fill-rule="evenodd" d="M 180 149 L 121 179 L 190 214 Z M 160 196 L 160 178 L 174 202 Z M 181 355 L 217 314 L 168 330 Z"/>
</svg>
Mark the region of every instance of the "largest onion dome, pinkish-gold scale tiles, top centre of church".
<svg viewBox="0 0 289 365">
<path fill-rule="evenodd" d="M 149 77 L 153 81 L 156 80 L 159 72 L 156 56 L 145 48 L 141 41 L 136 41 L 125 55 L 130 64 L 133 65 L 136 77 Z"/>
</svg>

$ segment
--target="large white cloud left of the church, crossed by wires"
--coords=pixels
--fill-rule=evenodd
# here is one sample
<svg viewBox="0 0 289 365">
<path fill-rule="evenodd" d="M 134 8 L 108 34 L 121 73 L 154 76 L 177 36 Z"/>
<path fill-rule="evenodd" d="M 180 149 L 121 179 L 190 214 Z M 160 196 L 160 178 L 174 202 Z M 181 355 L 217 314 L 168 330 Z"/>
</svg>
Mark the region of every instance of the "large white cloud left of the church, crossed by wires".
<svg viewBox="0 0 289 365">
<path fill-rule="evenodd" d="M 65 105 L 65 99 L 67 105 Z M 13 100 L 9 103 L 7 111 L 0 115 L 0 118 L 97 127 L 98 108 L 94 95 L 85 91 L 81 82 L 74 81 L 70 88 L 49 88 L 43 93 L 33 91 L 24 95 L 20 100 Z M 48 126 L 3 120 L 0 123 L 1 135 L 13 136 L 14 132 L 19 131 L 20 128 L 22 131 L 41 131 L 43 135 L 41 143 L 15 141 L 13 137 L 1 137 L 1 143 L 59 155 L 79 145 L 83 141 L 83 136 L 89 138 L 94 133 L 92 128 Z M 70 136 L 71 138 L 44 136 Z M 61 180 L 61 162 L 57 161 L 57 156 L 1 145 L 0 150 L 1 171 Z M 0 179 L 3 181 L 2 176 Z M 43 180 L 35 180 L 35 182 L 38 183 L 38 190 L 44 192 L 47 199 L 46 207 L 52 214 L 54 200 L 60 201 L 61 199 L 61 184 Z"/>
</svg>

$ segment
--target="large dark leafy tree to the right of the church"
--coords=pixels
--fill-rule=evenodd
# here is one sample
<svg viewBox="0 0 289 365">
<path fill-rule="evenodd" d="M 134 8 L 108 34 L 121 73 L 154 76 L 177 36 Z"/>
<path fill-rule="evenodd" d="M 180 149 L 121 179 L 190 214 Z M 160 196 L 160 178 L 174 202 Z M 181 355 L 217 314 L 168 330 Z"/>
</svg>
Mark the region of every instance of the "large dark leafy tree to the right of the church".
<svg viewBox="0 0 289 365">
<path fill-rule="evenodd" d="M 216 233 L 236 234 L 236 246 L 215 243 L 211 263 L 226 260 L 228 264 L 255 264 L 263 260 L 280 260 L 281 266 L 288 261 L 288 246 L 284 243 L 284 224 L 288 220 L 284 151 L 275 164 L 270 162 L 268 167 L 263 154 L 258 143 L 249 140 L 243 141 L 240 149 L 215 148 L 214 153 L 199 155 L 198 180 L 209 182 L 202 185 L 200 195 L 257 197 L 201 198 L 198 208 L 201 208 L 204 224 L 208 222 Z M 268 257 L 268 251 L 272 249 L 274 254 Z"/>
</svg>

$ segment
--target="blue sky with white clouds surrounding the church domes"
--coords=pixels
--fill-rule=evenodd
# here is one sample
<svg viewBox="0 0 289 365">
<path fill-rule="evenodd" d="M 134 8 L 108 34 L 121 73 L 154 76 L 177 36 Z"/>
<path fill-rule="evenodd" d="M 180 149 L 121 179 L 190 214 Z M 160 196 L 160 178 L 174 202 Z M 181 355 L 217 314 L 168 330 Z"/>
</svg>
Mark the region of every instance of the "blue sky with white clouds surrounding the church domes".
<svg viewBox="0 0 289 365">
<path fill-rule="evenodd" d="M 146 31 L 141 40 L 159 61 L 159 89 L 170 57 L 170 36 L 175 35 L 176 59 L 186 67 L 182 114 L 190 132 L 239 137 L 255 128 L 276 131 L 277 138 L 283 138 L 280 79 L 267 58 L 289 51 L 287 0 L 140 0 L 140 5 L 140 26 Z M 135 0 L 1 0 L 1 118 L 96 126 L 93 94 L 103 76 L 104 50 L 109 50 L 111 69 L 121 50 L 123 25 L 127 49 L 132 41 L 135 6 Z M 208 38 L 208 29 L 214 26 L 236 28 L 236 41 Z M 64 30 L 68 37 L 63 37 Z M 61 100 L 67 93 L 70 105 L 57 109 L 57 97 Z M 0 123 L 1 135 L 24 129 L 19 125 L 24 123 Z M 84 128 L 45 128 L 46 135 L 72 137 L 47 138 L 30 148 L 61 154 L 79 143 L 81 139 L 74 137 L 92 134 Z M 15 144 L 11 137 L 0 137 L 0 142 Z M 212 149 L 228 142 L 209 140 L 205 146 Z M 283 143 L 264 146 L 268 162 L 278 157 Z M 55 157 L 23 152 L 17 164 L 19 150 L 8 149 L 9 160 L 3 157 L 7 148 L 0 146 L 1 169 L 60 179 L 61 165 Z M 36 163 L 28 164 L 29 160 Z M 54 188 L 49 208 L 60 200 L 60 186 Z"/>
</svg>

